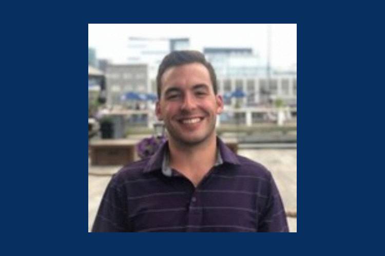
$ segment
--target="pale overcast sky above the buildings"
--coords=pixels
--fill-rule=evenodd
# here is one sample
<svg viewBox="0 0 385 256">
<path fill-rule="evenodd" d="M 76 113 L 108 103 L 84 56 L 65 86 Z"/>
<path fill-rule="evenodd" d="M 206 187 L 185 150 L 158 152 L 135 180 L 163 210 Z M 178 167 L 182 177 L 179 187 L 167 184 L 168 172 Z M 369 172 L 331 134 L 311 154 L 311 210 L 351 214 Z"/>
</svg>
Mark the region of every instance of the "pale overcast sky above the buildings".
<svg viewBox="0 0 385 256">
<path fill-rule="evenodd" d="M 271 65 L 290 68 L 297 63 L 297 24 L 271 24 Z M 189 38 L 190 47 L 253 48 L 267 59 L 267 24 L 88 24 L 88 47 L 98 59 L 124 63 L 129 36 Z"/>
</svg>

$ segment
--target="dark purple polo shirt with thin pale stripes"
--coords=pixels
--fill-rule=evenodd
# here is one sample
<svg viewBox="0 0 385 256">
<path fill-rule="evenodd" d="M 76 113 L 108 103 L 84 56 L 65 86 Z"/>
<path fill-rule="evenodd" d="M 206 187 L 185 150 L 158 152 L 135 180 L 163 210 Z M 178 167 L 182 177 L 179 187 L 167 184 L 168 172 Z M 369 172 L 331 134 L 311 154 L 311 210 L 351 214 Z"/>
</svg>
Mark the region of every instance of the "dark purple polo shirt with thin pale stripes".
<svg viewBox="0 0 385 256">
<path fill-rule="evenodd" d="M 217 149 L 217 163 L 197 187 L 167 170 L 167 142 L 123 167 L 106 188 L 92 232 L 288 232 L 271 173 L 219 138 Z"/>
</svg>

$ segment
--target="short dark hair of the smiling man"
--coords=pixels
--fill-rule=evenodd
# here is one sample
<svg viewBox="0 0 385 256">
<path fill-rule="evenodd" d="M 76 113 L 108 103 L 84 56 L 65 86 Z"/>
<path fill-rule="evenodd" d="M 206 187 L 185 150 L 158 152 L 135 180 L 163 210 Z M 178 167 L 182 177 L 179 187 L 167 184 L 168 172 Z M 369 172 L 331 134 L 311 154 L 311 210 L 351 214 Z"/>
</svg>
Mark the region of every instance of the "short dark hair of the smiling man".
<svg viewBox="0 0 385 256">
<path fill-rule="evenodd" d="M 203 53 L 194 50 L 171 51 L 163 58 L 162 63 L 159 65 L 157 75 L 158 99 L 161 97 L 161 79 L 166 69 L 195 62 L 201 63 L 207 68 L 208 73 L 210 74 L 211 83 L 213 83 L 214 93 L 217 94 L 217 76 L 215 75 L 213 66 L 206 60 Z"/>
</svg>

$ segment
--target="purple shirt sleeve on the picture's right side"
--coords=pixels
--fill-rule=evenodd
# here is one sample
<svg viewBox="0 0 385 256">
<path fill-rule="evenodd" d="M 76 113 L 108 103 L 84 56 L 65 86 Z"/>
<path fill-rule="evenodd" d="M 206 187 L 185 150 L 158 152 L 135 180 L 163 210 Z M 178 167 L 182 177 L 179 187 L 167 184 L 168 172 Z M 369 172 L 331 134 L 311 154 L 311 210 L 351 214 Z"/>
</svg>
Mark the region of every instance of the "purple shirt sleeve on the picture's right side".
<svg viewBox="0 0 385 256">
<path fill-rule="evenodd" d="M 267 188 L 267 200 L 258 221 L 258 232 L 288 232 L 286 212 L 271 174 Z"/>
</svg>

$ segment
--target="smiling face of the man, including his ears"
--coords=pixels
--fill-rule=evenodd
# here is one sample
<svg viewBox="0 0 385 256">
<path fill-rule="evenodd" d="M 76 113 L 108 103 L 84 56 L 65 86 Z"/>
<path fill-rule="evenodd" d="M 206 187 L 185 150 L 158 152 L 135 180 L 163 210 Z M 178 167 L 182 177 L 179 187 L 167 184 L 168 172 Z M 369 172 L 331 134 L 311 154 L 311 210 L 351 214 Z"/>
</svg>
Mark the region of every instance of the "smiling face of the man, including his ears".
<svg viewBox="0 0 385 256">
<path fill-rule="evenodd" d="M 215 95 L 207 68 L 190 63 L 168 68 L 161 78 L 161 97 L 156 106 L 170 139 L 194 145 L 215 136 L 221 96 Z"/>
</svg>

